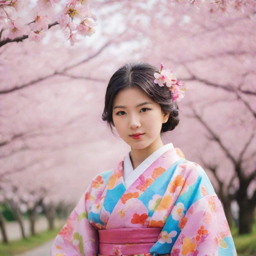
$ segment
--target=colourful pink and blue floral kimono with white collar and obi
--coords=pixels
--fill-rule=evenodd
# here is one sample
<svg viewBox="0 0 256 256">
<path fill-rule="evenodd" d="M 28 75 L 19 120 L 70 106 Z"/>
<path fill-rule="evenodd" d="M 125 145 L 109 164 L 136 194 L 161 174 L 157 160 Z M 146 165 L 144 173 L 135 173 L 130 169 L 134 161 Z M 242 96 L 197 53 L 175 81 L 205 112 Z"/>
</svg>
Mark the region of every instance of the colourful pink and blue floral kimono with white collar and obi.
<svg viewBox="0 0 256 256">
<path fill-rule="evenodd" d="M 237 255 L 204 169 L 168 143 L 133 170 L 130 152 L 96 175 L 51 256 Z"/>
</svg>

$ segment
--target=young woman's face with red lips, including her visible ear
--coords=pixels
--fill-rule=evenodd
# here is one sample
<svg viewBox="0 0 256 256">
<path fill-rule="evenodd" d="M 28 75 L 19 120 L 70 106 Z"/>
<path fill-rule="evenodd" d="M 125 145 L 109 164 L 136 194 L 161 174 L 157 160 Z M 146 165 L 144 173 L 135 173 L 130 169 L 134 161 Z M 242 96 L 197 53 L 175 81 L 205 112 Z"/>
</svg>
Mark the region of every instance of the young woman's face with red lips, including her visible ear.
<svg viewBox="0 0 256 256">
<path fill-rule="evenodd" d="M 147 103 L 145 103 L 147 102 Z M 169 114 L 138 88 L 120 91 L 113 102 L 113 122 L 119 136 L 132 148 L 141 149 L 160 138 L 162 123 Z M 134 139 L 133 133 L 144 133 Z"/>
</svg>

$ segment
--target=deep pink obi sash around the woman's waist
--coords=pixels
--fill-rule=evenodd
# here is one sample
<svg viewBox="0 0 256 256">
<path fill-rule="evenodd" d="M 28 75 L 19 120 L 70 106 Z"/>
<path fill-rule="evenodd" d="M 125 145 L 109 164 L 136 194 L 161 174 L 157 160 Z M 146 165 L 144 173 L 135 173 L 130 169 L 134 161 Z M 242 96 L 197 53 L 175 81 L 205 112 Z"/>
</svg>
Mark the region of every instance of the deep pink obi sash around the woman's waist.
<svg viewBox="0 0 256 256">
<path fill-rule="evenodd" d="M 149 250 L 157 242 L 162 228 L 99 229 L 101 255 L 151 255 Z"/>
</svg>

